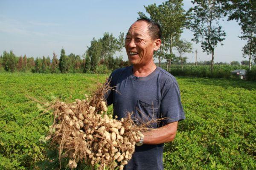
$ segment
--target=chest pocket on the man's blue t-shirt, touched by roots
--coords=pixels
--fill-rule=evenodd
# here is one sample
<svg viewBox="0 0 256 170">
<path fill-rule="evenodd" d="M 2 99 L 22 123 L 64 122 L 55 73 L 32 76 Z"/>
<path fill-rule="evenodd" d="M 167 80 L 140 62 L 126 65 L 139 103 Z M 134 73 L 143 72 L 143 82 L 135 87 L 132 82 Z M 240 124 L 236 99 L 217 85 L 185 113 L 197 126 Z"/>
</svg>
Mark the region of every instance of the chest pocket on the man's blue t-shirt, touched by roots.
<svg viewBox="0 0 256 170">
<path fill-rule="evenodd" d="M 146 123 L 151 120 L 156 120 L 159 118 L 159 103 L 152 102 L 151 104 L 143 102 L 138 99 L 136 112 L 134 115 L 134 121 L 137 124 L 141 124 L 142 122 Z M 151 127 L 156 128 L 157 122 L 153 121 L 150 124 Z"/>
</svg>

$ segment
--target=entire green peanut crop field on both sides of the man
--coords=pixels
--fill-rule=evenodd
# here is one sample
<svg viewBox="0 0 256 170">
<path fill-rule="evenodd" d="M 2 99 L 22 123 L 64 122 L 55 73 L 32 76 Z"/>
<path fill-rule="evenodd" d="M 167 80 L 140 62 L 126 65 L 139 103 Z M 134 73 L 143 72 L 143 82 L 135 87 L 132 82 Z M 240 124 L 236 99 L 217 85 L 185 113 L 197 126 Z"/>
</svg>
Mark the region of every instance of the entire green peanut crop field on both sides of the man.
<svg viewBox="0 0 256 170">
<path fill-rule="evenodd" d="M 0 169 L 58 167 L 57 153 L 44 140 L 52 115 L 43 114 L 37 104 L 52 96 L 64 102 L 84 99 L 107 77 L 0 74 Z M 186 119 L 179 122 L 175 140 L 165 145 L 165 169 L 256 169 L 256 82 L 191 77 L 177 81 Z"/>
</svg>

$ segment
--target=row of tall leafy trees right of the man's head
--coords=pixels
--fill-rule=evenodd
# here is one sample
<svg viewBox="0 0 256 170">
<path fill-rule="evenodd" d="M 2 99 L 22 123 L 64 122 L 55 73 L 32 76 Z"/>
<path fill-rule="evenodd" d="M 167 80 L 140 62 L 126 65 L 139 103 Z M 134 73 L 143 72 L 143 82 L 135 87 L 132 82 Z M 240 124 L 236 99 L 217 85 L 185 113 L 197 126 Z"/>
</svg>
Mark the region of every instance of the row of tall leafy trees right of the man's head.
<svg viewBox="0 0 256 170">
<path fill-rule="evenodd" d="M 203 52 L 212 54 L 211 71 L 213 71 L 214 50 L 226 36 L 219 21 L 227 17 L 228 21 L 236 20 L 241 26 L 240 38 L 247 40 L 247 44 L 242 49 L 243 56 L 249 56 L 249 68 L 251 68 L 252 59 L 256 60 L 256 1 L 192 0 L 193 7 L 188 11 L 183 9 L 182 1 L 168 0 L 159 6 L 155 3 L 144 6 L 149 18 L 159 23 L 163 31 L 162 45 L 155 55 L 159 64 L 161 59 L 166 59 L 167 70 L 170 71 L 172 60 L 178 58 L 182 64 L 186 59 L 182 54 L 192 52 L 191 43 L 180 39 L 183 29 L 188 28 L 194 34 L 192 41 L 201 43 Z M 139 18 L 148 17 L 142 12 L 138 14 Z M 176 48 L 179 56 L 175 56 L 173 48 Z"/>
</svg>

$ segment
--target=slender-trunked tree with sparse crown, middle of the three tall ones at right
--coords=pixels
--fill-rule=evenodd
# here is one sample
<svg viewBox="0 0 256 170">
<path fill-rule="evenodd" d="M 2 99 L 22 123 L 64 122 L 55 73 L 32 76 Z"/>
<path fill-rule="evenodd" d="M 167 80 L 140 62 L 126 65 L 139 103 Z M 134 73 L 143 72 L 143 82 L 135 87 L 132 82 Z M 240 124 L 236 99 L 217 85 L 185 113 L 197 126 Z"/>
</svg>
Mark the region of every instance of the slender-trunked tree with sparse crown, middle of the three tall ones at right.
<svg viewBox="0 0 256 170">
<path fill-rule="evenodd" d="M 194 33 L 192 41 L 201 42 L 203 52 L 212 54 L 211 72 L 213 71 L 214 49 L 218 42 L 225 40 L 226 33 L 219 26 L 219 20 L 224 15 L 221 4 L 217 0 L 192 0 L 190 8 L 190 28 Z M 221 44 L 223 45 L 223 44 Z"/>
</svg>

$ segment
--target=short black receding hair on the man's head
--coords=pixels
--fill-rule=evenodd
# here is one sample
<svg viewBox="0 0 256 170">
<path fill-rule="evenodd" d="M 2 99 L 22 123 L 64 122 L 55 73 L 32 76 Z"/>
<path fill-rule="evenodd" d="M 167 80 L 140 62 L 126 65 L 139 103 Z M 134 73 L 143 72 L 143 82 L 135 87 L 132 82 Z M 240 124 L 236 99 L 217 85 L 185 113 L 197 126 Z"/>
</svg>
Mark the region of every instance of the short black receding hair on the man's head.
<svg viewBox="0 0 256 170">
<path fill-rule="evenodd" d="M 156 40 L 158 38 L 161 39 L 162 31 L 161 31 L 160 25 L 158 23 L 156 23 L 153 20 L 150 20 L 148 18 L 140 18 L 137 21 L 145 21 L 146 23 L 148 23 L 148 31 L 151 34 L 151 38 L 153 40 Z"/>
</svg>

